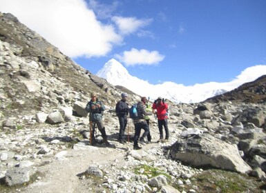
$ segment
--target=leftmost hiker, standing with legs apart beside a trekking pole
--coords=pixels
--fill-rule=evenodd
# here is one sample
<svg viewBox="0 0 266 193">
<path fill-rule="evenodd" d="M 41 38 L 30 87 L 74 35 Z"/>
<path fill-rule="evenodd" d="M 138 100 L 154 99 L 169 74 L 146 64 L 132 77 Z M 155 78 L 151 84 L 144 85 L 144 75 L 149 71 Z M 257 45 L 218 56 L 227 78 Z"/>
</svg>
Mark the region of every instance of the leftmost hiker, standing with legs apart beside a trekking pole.
<svg viewBox="0 0 266 193">
<path fill-rule="evenodd" d="M 91 93 L 91 101 L 88 101 L 86 105 L 86 111 L 89 112 L 90 119 L 90 132 L 91 132 L 91 145 L 95 145 L 97 143 L 95 139 L 95 124 L 97 124 L 97 128 L 99 132 L 102 134 L 102 139 L 106 145 L 110 145 L 107 141 L 107 136 L 104 128 L 104 122 L 102 121 L 102 114 L 105 110 L 104 104 L 102 101 L 99 101 L 95 92 Z"/>
</svg>

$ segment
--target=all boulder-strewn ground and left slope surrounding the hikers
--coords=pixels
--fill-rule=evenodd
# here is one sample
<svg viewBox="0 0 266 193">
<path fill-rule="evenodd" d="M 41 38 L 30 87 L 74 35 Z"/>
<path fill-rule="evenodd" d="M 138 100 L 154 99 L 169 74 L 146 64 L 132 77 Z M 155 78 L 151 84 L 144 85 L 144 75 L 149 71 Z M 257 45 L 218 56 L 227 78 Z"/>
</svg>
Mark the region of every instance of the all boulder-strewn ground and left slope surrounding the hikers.
<svg viewBox="0 0 266 193">
<path fill-rule="evenodd" d="M 122 91 L 12 14 L 0 13 L 0 74 L 1 192 L 265 192 L 265 103 L 167 100 L 169 141 L 156 143 L 151 116 L 153 143 L 133 150 L 131 120 L 129 141 L 117 141 Z M 89 144 L 92 91 L 106 105 L 111 147 L 99 132 Z M 129 94 L 129 103 L 139 99 Z"/>
</svg>

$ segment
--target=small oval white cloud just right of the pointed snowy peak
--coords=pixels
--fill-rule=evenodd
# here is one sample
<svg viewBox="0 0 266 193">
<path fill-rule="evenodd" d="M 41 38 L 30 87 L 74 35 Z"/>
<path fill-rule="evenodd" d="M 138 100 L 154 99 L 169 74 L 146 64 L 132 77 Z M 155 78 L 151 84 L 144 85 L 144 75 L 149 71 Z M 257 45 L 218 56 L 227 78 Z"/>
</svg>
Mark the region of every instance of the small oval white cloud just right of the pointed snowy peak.
<svg viewBox="0 0 266 193">
<path fill-rule="evenodd" d="M 164 59 L 164 55 L 161 55 L 158 51 L 137 50 L 135 48 L 124 51 L 122 56 L 117 54 L 115 57 L 126 66 L 155 65 Z"/>
</svg>

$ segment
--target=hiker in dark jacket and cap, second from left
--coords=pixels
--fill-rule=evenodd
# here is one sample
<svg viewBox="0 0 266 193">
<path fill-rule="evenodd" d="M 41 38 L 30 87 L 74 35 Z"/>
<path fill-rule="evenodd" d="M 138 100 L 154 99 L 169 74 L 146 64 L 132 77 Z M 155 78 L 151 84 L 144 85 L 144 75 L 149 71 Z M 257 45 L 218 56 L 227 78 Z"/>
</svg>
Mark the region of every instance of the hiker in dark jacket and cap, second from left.
<svg viewBox="0 0 266 193">
<path fill-rule="evenodd" d="M 118 141 L 122 144 L 126 143 L 126 139 L 124 139 L 124 132 L 126 130 L 127 116 L 129 114 L 129 104 L 126 103 L 127 96 L 128 95 L 123 92 L 121 94 L 122 99 L 118 101 L 115 105 L 115 112 L 118 116 L 120 124 Z"/>
</svg>

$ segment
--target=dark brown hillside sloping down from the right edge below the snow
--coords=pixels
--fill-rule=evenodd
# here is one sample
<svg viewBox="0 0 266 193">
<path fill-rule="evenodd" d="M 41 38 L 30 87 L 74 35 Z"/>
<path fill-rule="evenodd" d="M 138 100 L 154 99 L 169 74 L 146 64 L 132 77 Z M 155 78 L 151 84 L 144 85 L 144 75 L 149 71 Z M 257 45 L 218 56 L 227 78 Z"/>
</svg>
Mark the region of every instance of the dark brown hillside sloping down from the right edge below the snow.
<svg viewBox="0 0 266 193">
<path fill-rule="evenodd" d="M 266 102 L 266 75 L 259 77 L 255 81 L 240 85 L 240 87 L 225 92 L 218 96 L 213 96 L 207 102 L 219 103 L 222 101 L 236 101 L 240 103 L 265 103 Z"/>
</svg>

